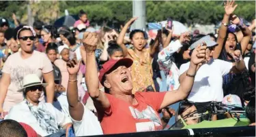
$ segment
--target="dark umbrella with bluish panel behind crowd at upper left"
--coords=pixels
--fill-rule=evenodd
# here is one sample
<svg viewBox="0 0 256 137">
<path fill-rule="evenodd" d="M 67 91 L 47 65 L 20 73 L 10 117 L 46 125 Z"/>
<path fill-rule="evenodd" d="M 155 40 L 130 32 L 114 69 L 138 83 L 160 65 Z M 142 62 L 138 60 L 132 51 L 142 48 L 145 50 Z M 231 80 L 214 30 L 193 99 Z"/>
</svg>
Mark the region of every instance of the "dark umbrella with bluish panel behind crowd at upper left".
<svg viewBox="0 0 256 137">
<path fill-rule="evenodd" d="M 61 27 L 61 26 L 73 26 L 74 22 L 76 22 L 76 20 L 79 20 L 79 17 L 76 15 L 68 15 L 68 16 L 62 16 L 61 18 L 57 19 L 54 22 L 54 26 L 56 26 L 57 28 Z"/>
</svg>

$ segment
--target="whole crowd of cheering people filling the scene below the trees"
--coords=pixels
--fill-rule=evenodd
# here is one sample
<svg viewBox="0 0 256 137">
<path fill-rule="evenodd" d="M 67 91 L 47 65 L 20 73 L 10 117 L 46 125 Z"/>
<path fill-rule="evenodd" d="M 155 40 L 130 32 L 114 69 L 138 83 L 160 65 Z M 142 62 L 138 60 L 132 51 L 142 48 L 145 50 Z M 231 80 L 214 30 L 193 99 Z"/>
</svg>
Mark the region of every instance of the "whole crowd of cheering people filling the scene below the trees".
<svg viewBox="0 0 256 137">
<path fill-rule="evenodd" d="M 227 119 L 204 114 L 210 102 L 244 108 L 255 125 L 255 20 L 250 26 L 226 1 L 217 34 L 173 36 L 173 29 L 119 32 L 89 24 L 10 28 L 0 20 L 0 136 L 90 136 L 164 130 Z M 217 35 L 217 37 L 216 37 Z M 179 108 L 171 104 L 179 103 Z M 161 115 L 161 117 L 160 117 Z M 242 117 L 242 115 L 240 115 Z"/>
</svg>

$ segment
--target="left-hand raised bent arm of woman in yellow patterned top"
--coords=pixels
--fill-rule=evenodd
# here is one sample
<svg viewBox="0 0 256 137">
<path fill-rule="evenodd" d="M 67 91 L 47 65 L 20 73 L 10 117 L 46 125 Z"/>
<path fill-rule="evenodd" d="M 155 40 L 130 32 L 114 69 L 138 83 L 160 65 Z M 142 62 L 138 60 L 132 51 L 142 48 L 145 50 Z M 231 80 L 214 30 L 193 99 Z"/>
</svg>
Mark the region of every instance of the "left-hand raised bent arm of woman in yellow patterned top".
<svg viewBox="0 0 256 137">
<path fill-rule="evenodd" d="M 119 34 L 119 37 L 117 38 L 117 44 L 122 48 L 123 53 L 124 53 L 124 57 L 126 57 L 128 55 L 128 50 L 126 48 L 126 45 L 124 45 L 124 37 L 126 36 L 126 31 L 128 30 L 128 28 L 130 27 L 130 25 L 137 20 L 137 17 L 131 18 L 126 25 L 124 25 L 124 27 L 122 28 L 122 31 Z"/>
</svg>

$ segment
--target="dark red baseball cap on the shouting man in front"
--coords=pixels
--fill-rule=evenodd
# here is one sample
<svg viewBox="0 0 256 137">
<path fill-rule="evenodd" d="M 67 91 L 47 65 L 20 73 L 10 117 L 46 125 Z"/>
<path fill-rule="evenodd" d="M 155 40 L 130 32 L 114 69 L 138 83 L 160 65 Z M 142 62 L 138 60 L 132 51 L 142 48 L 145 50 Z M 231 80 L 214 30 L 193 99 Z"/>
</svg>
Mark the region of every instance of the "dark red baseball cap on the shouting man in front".
<svg viewBox="0 0 256 137">
<path fill-rule="evenodd" d="M 129 68 L 132 66 L 133 61 L 130 58 L 122 58 L 120 60 L 109 60 L 106 63 L 102 65 L 102 68 L 100 69 L 100 75 L 99 75 L 99 80 L 100 83 L 104 86 L 104 75 L 108 73 L 111 68 L 114 66 L 126 66 L 126 68 Z"/>
</svg>

